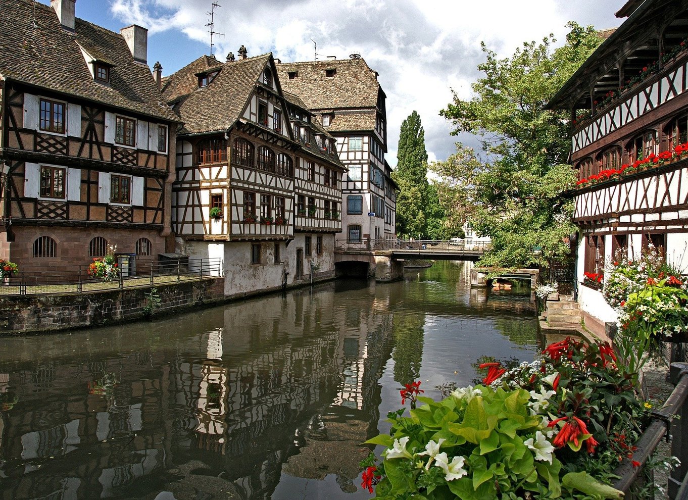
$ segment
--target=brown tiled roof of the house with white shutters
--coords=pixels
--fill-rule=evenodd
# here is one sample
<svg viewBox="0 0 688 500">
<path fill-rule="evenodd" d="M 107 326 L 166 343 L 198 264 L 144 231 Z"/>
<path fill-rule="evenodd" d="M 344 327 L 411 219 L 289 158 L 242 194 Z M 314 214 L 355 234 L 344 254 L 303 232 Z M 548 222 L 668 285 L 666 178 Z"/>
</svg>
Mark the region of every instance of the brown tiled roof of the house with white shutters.
<svg viewBox="0 0 688 500">
<path fill-rule="evenodd" d="M 175 113 L 161 105 L 162 96 L 149 67 L 133 61 L 119 33 L 78 18 L 75 32 L 67 32 L 52 8 L 32 0 L 0 0 L 0 12 L 3 79 L 178 121 Z M 94 81 L 79 45 L 94 58 L 113 65 L 109 85 Z"/>
</svg>

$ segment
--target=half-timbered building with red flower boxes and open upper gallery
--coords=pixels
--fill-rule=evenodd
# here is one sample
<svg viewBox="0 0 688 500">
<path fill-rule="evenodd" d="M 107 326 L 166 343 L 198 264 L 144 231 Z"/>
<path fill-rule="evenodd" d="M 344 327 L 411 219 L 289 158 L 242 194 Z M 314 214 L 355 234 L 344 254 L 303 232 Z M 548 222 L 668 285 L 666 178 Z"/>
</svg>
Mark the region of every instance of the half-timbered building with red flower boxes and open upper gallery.
<svg viewBox="0 0 688 500">
<path fill-rule="evenodd" d="M 688 1 L 630 0 L 616 15 L 627 19 L 550 101 L 571 113 L 578 300 L 599 333 L 616 315 L 595 282 L 617 252 L 652 244 L 688 268 Z"/>
</svg>

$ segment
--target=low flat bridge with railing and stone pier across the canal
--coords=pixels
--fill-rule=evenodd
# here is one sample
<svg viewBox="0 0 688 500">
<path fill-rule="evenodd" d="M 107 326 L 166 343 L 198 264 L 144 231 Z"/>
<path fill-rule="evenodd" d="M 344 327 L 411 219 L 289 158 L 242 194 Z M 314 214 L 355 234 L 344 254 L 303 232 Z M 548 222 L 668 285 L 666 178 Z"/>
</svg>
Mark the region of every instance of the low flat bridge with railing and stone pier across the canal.
<svg viewBox="0 0 688 500">
<path fill-rule="evenodd" d="M 475 262 L 488 248 L 490 243 L 470 240 L 336 239 L 334 263 L 340 264 L 337 267 L 342 274 L 353 270 L 354 274 L 375 276 L 377 281 L 393 281 L 403 275 L 405 260 Z"/>
</svg>

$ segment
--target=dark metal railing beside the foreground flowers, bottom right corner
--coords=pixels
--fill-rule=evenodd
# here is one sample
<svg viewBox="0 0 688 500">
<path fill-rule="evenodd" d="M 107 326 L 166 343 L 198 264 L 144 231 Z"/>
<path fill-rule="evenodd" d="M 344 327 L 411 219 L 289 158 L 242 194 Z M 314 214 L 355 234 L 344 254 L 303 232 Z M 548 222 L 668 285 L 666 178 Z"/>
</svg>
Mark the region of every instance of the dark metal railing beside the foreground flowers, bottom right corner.
<svg viewBox="0 0 688 500">
<path fill-rule="evenodd" d="M 671 455 L 680 460 L 680 465 L 671 471 L 667 494 L 671 500 L 688 500 L 688 363 L 671 363 L 669 373 L 674 391 L 661 408 L 652 412 L 652 423 L 636 443 L 632 460 L 641 465 L 634 467 L 632 461 L 624 459 L 614 470 L 619 479 L 612 486 L 628 493 L 657 445 L 667 436 L 667 441 L 671 438 Z"/>
</svg>

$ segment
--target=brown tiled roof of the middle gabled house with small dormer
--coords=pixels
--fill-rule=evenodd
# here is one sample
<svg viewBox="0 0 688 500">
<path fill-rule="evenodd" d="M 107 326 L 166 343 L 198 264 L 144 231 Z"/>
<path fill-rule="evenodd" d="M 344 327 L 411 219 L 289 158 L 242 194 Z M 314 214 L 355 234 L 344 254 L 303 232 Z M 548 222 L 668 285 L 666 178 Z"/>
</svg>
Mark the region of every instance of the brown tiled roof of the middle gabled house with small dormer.
<svg viewBox="0 0 688 500">
<path fill-rule="evenodd" d="M 180 133 L 204 133 L 227 130 L 235 124 L 246 107 L 255 85 L 270 61 L 270 54 L 218 63 L 201 56 L 166 78 L 162 94 L 184 122 Z M 218 66 L 219 64 L 219 66 Z M 198 87 L 198 73 L 208 69 L 219 73 L 206 87 Z"/>
</svg>

